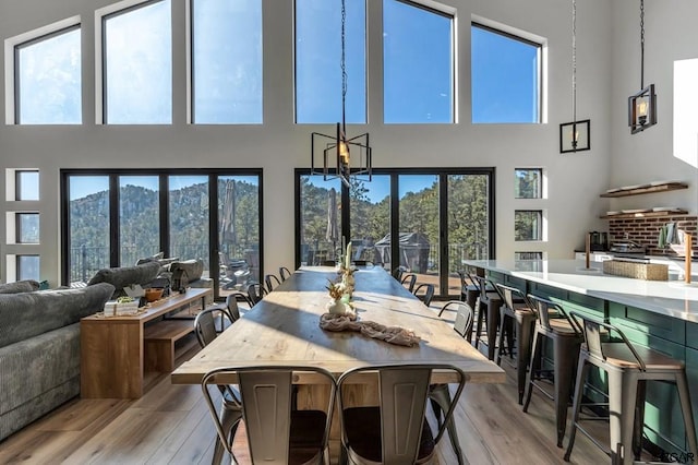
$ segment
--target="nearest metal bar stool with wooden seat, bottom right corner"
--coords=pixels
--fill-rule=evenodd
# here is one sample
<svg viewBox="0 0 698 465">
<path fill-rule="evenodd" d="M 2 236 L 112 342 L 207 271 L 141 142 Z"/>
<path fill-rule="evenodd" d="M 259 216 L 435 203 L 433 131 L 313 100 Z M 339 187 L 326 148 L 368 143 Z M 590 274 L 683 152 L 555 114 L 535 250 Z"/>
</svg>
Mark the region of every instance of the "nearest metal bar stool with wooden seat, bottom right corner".
<svg viewBox="0 0 698 465">
<path fill-rule="evenodd" d="M 607 374 L 609 415 L 611 450 L 605 451 L 614 464 L 633 464 L 639 460 L 640 443 L 645 422 L 645 388 L 647 381 L 667 381 L 676 384 L 684 428 L 688 438 L 688 446 L 694 456 L 698 454 L 696 445 L 696 426 L 688 394 L 686 366 L 657 350 L 634 346 L 617 327 L 597 321 L 589 317 L 570 312 L 577 321 L 581 321 L 585 343 L 579 350 L 575 400 L 573 403 L 571 431 L 569 444 L 565 452 L 565 461 L 569 461 L 575 445 L 575 434 L 581 431 L 598 446 L 604 449 L 580 425 L 579 409 L 583 386 L 593 365 Z M 605 342 L 602 333 L 619 336 L 617 342 Z M 681 450 L 681 448 L 676 448 Z"/>
</svg>

